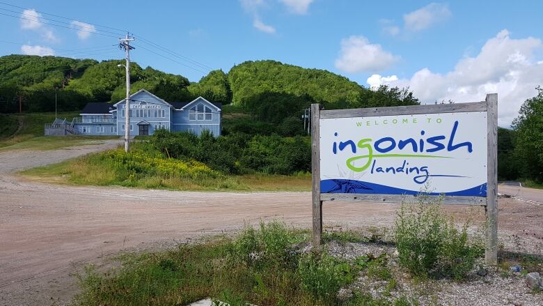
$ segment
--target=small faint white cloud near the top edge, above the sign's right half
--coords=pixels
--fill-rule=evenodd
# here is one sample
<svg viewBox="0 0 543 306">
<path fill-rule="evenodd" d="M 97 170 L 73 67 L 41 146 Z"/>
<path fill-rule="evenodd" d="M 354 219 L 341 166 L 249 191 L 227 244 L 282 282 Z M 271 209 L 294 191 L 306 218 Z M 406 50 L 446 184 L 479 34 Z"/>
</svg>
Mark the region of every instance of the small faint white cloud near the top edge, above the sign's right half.
<svg viewBox="0 0 543 306">
<path fill-rule="evenodd" d="M 451 13 L 447 4 L 430 3 L 423 8 L 404 15 L 405 29 L 409 31 L 427 29 L 436 22 L 448 19 L 450 15 Z"/>
</svg>

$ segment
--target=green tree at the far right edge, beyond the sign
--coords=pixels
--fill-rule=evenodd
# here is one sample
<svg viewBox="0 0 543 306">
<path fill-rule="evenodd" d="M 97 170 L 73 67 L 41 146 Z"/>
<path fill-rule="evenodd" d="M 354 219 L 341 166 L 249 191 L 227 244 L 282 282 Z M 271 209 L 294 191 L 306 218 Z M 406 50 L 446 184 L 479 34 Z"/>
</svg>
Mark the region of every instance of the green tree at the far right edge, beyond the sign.
<svg viewBox="0 0 543 306">
<path fill-rule="evenodd" d="M 543 182 L 543 89 L 524 102 L 512 124 L 515 155 L 521 162 L 521 176 Z"/>
</svg>

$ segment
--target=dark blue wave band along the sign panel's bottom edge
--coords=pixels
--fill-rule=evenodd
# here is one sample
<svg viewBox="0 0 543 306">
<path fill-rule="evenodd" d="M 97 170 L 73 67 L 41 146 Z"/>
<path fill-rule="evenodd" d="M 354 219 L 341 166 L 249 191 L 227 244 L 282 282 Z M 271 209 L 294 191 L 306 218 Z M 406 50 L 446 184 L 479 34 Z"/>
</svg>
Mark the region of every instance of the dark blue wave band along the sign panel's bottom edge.
<svg viewBox="0 0 543 306">
<path fill-rule="evenodd" d="M 362 194 L 419 194 L 419 190 L 407 190 L 386 185 L 380 185 L 364 181 L 345 180 L 342 178 L 320 181 L 322 193 L 362 193 Z M 430 195 L 439 195 L 440 192 L 430 192 Z M 445 195 L 486 197 L 487 183 L 454 192 L 445 192 Z"/>
</svg>

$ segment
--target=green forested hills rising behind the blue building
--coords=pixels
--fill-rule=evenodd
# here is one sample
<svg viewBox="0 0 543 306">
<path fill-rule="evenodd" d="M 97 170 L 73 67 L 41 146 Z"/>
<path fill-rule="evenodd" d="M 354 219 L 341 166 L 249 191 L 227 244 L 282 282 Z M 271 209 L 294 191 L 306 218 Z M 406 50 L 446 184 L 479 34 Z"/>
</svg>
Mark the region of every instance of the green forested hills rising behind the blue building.
<svg viewBox="0 0 543 306">
<path fill-rule="evenodd" d="M 124 61 L 98 62 L 57 56 L 0 57 L 0 112 L 23 109 L 51 111 L 57 93 L 61 110 L 81 109 L 87 102 L 117 102 L 125 95 Z M 246 61 L 228 73 L 214 70 L 199 82 L 153 68 L 131 64 L 132 91 L 147 89 L 167 101 L 202 95 L 214 102 L 258 105 L 261 100 L 322 102 L 329 108 L 412 105 L 407 90 L 383 87 L 370 91 L 326 70 L 307 69 L 278 61 Z"/>
</svg>

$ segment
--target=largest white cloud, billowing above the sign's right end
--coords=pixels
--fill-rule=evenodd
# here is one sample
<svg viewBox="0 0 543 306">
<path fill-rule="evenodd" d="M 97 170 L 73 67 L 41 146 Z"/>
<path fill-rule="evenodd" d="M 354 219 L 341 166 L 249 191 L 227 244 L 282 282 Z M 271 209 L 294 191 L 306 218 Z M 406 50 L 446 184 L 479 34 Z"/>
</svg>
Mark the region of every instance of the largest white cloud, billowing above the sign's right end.
<svg viewBox="0 0 543 306">
<path fill-rule="evenodd" d="M 537 94 L 543 84 L 543 61 L 534 59 L 543 42 L 537 38 L 512 39 L 507 30 L 487 40 L 474 57 L 460 59 L 455 69 L 435 73 L 423 68 L 410 79 L 368 78 L 370 86 L 388 84 L 407 87 L 421 102 L 441 100 L 474 102 L 487 93 L 498 93 L 498 124 L 508 126 L 517 117 L 524 100 Z"/>
</svg>

